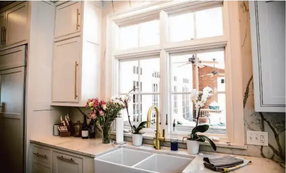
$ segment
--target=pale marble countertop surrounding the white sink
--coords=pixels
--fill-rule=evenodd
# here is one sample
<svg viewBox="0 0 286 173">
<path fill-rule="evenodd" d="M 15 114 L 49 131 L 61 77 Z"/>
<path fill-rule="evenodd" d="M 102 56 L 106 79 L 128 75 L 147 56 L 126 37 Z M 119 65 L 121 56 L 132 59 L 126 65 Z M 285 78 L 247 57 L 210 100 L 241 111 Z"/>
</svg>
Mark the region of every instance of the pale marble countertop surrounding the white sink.
<svg viewBox="0 0 286 173">
<path fill-rule="evenodd" d="M 59 136 L 50 136 L 45 138 L 37 138 L 37 139 L 30 139 L 30 142 L 44 145 L 47 147 L 52 147 L 55 149 L 60 149 L 64 151 L 73 152 L 76 154 L 81 154 L 89 157 L 99 157 L 107 152 L 112 150 L 118 149 L 119 146 L 110 144 L 102 144 L 102 139 L 81 139 L 75 137 L 59 137 Z M 155 150 L 152 145 L 143 144 L 142 146 L 136 147 L 133 146 L 131 142 L 127 142 L 127 144 L 120 146 L 126 147 L 135 150 L 143 150 L 143 151 L 150 151 L 153 153 L 158 154 L 167 154 L 167 155 L 174 155 L 174 156 L 184 156 L 189 158 L 195 158 L 197 155 L 191 155 L 187 153 L 186 149 L 179 149 L 178 151 L 170 151 L 169 147 L 162 147 L 160 150 Z M 200 152 L 201 158 L 203 157 L 221 157 L 227 154 L 223 153 L 215 153 L 215 152 Z M 251 160 L 252 164 L 247 165 L 245 167 L 239 168 L 232 172 L 236 173 L 250 173 L 250 172 L 260 172 L 260 173 L 281 173 L 285 172 L 285 169 L 274 162 L 273 160 L 267 158 L 260 158 L 260 157 L 251 157 L 251 156 L 241 156 L 241 155 L 234 155 L 238 157 L 243 157 L 247 160 Z M 192 161 L 194 162 L 194 161 Z M 194 165 L 190 165 L 194 166 Z M 207 172 L 214 172 L 207 168 L 200 169 L 201 167 L 197 166 L 197 171 L 190 171 L 196 173 L 207 173 Z M 189 172 L 189 171 L 186 171 Z"/>
</svg>

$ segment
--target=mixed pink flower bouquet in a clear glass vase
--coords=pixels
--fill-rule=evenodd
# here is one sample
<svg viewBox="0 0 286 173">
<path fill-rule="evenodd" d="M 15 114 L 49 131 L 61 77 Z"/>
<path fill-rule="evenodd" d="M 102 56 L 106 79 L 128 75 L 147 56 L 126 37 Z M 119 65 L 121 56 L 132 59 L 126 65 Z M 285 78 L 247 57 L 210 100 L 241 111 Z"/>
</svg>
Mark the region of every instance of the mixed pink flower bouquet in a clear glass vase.
<svg viewBox="0 0 286 173">
<path fill-rule="evenodd" d="M 110 143 L 111 123 L 120 115 L 124 105 L 113 100 L 103 101 L 98 98 L 88 99 L 86 103 L 92 119 L 98 120 L 102 129 L 102 143 Z"/>
</svg>

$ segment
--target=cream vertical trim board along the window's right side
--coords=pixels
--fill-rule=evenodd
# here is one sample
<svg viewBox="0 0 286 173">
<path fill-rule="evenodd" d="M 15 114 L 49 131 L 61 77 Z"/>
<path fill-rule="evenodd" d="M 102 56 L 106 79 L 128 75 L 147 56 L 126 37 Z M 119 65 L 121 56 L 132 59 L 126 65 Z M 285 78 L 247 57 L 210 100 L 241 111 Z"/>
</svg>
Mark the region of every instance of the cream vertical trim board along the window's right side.
<svg viewBox="0 0 286 173">
<path fill-rule="evenodd" d="M 227 135 L 231 138 L 231 143 L 244 145 L 244 109 L 243 109 L 243 73 L 240 45 L 240 22 L 239 22 L 239 2 L 224 2 L 225 28 L 230 41 L 225 47 L 226 68 L 226 104 L 232 110 L 227 109 L 226 129 Z M 229 82 L 231 80 L 231 82 Z M 230 85 L 231 83 L 231 85 Z M 227 126 L 232 124 L 233 126 Z"/>
</svg>

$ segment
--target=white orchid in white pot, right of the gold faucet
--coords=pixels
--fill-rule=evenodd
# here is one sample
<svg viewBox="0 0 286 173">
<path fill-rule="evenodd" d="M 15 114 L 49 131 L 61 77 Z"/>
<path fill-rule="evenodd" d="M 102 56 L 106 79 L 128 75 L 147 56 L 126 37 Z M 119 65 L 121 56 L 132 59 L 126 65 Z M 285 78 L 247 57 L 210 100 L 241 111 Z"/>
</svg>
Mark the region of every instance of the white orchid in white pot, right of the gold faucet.
<svg viewBox="0 0 286 173">
<path fill-rule="evenodd" d="M 195 108 L 196 108 L 196 127 L 192 130 L 191 134 L 188 135 L 187 138 L 187 150 L 188 153 L 190 154 L 198 154 L 199 153 L 199 146 L 200 142 L 205 142 L 207 140 L 213 150 L 216 151 L 216 146 L 215 144 L 207 137 L 204 135 L 198 135 L 197 133 L 204 133 L 208 130 L 209 126 L 208 125 L 199 125 L 199 112 L 201 107 L 204 106 L 205 102 L 207 101 L 207 98 L 211 96 L 212 89 L 210 87 L 205 87 L 203 89 L 203 94 L 200 96 L 199 92 L 194 90 L 192 91 L 192 96 L 193 96 L 193 102 L 195 103 Z M 184 141 L 183 138 L 183 141 Z"/>
</svg>

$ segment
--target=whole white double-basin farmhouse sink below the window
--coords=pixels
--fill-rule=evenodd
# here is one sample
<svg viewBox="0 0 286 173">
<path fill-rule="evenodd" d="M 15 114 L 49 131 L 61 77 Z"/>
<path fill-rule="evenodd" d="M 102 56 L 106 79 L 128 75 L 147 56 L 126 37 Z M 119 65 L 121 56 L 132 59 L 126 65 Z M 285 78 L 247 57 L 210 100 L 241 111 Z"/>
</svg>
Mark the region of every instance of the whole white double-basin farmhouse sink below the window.
<svg viewBox="0 0 286 173">
<path fill-rule="evenodd" d="M 192 160 L 192 158 L 159 154 L 152 151 L 120 148 L 95 158 L 94 165 L 95 173 L 181 173 Z"/>
</svg>

